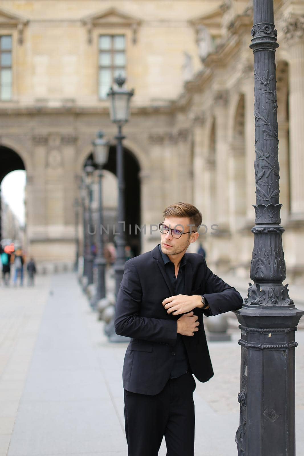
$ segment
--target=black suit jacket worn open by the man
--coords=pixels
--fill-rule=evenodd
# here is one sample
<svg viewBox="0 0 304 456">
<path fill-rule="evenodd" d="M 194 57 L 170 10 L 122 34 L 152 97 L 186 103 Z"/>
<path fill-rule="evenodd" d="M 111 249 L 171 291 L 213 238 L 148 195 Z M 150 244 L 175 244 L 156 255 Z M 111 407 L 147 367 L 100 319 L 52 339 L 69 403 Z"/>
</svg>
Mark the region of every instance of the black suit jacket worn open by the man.
<svg viewBox="0 0 304 456">
<path fill-rule="evenodd" d="M 237 310 L 241 295 L 212 274 L 199 254 L 185 254 L 185 295 L 206 295 L 210 306 L 206 315 Z M 165 272 L 158 246 L 129 259 L 124 267 L 115 308 L 115 331 L 131 337 L 124 358 L 124 389 L 133 393 L 160 393 L 170 378 L 174 363 L 172 348 L 176 342 L 177 319 L 168 314 L 162 301 L 175 295 Z M 182 336 L 192 373 L 200 382 L 213 375 L 203 324 L 203 311 L 194 309 L 199 330 L 194 336 Z"/>
</svg>

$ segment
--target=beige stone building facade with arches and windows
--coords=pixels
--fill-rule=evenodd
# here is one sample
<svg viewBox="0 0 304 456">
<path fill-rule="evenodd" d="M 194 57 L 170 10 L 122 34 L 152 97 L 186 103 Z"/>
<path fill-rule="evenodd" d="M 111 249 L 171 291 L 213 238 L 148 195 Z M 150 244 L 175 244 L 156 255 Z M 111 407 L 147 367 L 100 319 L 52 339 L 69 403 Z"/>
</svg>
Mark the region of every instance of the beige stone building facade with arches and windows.
<svg viewBox="0 0 304 456">
<path fill-rule="evenodd" d="M 283 243 L 290 279 L 303 280 L 304 0 L 274 4 Z M 98 130 L 111 140 L 105 168 L 115 174 L 104 94 L 120 72 L 135 89 L 124 127 L 128 242 L 150 249 L 162 209 L 193 202 L 211 267 L 248 275 L 251 28 L 248 0 L 0 1 L 0 180 L 26 169 L 27 235 L 38 261 L 72 264 L 78 176 Z M 146 234 L 135 235 L 135 224 Z"/>
</svg>

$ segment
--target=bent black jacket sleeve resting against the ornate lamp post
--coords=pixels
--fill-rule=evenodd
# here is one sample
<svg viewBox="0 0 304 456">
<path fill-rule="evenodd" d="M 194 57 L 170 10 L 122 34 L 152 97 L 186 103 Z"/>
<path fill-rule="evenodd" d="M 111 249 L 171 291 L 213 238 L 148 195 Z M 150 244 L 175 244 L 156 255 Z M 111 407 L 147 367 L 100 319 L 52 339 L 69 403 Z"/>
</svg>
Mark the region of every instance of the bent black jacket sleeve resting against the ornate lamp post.
<svg viewBox="0 0 304 456">
<path fill-rule="evenodd" d="M 228 285 L 208 268 L 206 261 L 205 290 L 206 298 L 210 309 L 204 311 L 206 316 L 218 315 L 220 313 L 236 311 L 242 307 L 242 296 L 239 292 Z M 209 311 L 209 312 L 208 312 Z"/>
</svg>

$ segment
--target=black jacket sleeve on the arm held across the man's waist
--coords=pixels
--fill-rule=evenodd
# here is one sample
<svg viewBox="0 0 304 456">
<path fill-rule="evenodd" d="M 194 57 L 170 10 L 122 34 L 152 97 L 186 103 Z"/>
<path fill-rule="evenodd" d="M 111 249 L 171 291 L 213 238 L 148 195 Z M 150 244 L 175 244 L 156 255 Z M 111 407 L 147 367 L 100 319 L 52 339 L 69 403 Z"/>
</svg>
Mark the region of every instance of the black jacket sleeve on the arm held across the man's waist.
<svg viewBox="0 0 304 456">
<path fill-rule="evenodd" d="M 140 316 L 142 288 L 131 260 L 124 266 L 115 306 L 115 332 L 121 336 L 175 345 L 177 321 Z"/>
</svg>

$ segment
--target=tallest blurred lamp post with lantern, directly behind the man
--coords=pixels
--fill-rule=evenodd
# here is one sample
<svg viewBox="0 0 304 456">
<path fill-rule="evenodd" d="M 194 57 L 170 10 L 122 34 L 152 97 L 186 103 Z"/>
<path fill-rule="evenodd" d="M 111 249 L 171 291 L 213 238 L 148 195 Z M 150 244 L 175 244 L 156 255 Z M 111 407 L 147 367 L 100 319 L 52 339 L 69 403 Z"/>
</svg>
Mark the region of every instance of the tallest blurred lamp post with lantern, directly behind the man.
<svg viewBox="0 0 304 456">
<path fill-rule="evenodd" d="M 126 90 L 123 85 L 126 81 L 125 78 L 118 76 L 114 79 L 118 88 L 110 88 L 108 97 L 110 98 L 110 117 L 111 121 L 118 126 L 118 135 L 115 136 L 117 140 L 116 145 L 116 170 L 118 177 L 118 236 L 116 239 L 117 256 L 114 264 L 115 271 L 115 292 L 116 295 L 119 290 L 120 282 L 124 275 L 125 263 L 125 236 L 124 236 L 124 153 L 122 141 L 125 138 L 122 134 L 123 125 L 129 120 L 130 113 L 130 99 L 134 94 L 134 90 Z"/>
</svg>

